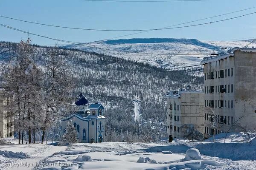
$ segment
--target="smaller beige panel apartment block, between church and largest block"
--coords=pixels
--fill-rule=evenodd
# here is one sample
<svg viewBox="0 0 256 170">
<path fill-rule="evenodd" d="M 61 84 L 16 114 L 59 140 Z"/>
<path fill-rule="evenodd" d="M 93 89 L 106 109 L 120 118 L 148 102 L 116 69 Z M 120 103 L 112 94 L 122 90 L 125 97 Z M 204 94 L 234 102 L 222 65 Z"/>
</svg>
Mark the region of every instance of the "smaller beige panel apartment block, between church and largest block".
<svg viewBox="0 0 256 170">
<path fill-rule="evenodd" d="M 204 134 L 204 92 L 182 90 L 167 94 L 166 97 L 167 136 L 183 139 L 184 125 L 193 125 Z"/>
</svg>

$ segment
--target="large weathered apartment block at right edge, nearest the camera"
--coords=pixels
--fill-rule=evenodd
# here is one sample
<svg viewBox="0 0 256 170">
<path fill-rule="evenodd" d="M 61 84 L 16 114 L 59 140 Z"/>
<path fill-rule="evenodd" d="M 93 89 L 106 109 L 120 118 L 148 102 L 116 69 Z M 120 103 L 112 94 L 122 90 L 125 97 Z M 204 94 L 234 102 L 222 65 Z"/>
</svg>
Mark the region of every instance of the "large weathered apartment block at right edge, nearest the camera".
<svg viewBox="0 0 256 170">
<path fill-rule="evenodd" d="M 256 49 L 234 48 L 204 65 L 205 137 L 221 132 L 256 130 Z M 214 115 L 215 130 L 210 126 Z M 213 117 L 214 117 L 213 116 Z"/>
</svg>

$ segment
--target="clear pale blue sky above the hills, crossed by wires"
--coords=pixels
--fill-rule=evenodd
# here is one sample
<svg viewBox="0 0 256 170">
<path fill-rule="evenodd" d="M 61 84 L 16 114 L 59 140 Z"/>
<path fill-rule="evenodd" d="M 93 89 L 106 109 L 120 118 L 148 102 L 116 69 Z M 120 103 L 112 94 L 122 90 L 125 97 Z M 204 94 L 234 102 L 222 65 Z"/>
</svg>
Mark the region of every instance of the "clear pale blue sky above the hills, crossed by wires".
<svg viewBox="0 0 256 170">
<path fill-rule="evenodd" d="M 82 0 L 1 0 L 0 15 L 39 23 L 99 29 L 148 29 L 171 26 L 256 6 L 255 0 L 208 0 L 198 2 L 119 3 Z M 204 23 L 255 12 L 256 8 L 229 14 Z M 122 38 L 196 38 L 198 40 L 230 40 L 256 37 L 256 14 L 205 26 L 150 31 Z M 134 32 L 82 31 L 38 26 L 0 17 L 0 23 L 44 36 L 92 42 Z M 192 23 L 192 24 L 196 24 Z M 0 27 L 0 40 L 19 42 L 27 34 Z M 32 43 L 51 45 L 56 41 L 30 36 Z M 63 42 L 58 42 L 59 44 Z"/>
</svg>

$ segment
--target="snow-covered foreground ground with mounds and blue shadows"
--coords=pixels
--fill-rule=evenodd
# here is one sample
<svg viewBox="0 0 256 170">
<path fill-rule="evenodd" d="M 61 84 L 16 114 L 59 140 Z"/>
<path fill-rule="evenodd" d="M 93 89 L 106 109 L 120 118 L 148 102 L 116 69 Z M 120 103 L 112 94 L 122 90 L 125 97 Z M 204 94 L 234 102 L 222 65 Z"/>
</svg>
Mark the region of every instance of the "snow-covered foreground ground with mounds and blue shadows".
<svg viewBox="0 0 256 170">
<path fill-rule="evenodd" d="M 207 139 L 172 143 L 73 143 L 67 147 L 9 144 L 0 146 L 0 165 L 4 170 L 255 170 L 256 134 L 250 136 L 252 144 L 244 133 L 229 133 L 226 143 L 225 134 L 219 134 L 214 143 Z M 10 163 L 31 166 L 8 167 Z"/>
</svg>

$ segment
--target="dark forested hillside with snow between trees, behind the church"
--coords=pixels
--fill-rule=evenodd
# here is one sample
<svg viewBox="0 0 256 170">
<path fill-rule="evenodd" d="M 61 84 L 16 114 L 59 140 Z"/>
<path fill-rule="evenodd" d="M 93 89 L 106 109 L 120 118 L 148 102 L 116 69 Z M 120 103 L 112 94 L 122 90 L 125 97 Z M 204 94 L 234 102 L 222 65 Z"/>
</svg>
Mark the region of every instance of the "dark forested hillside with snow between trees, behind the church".
<svg viewBox="0 0 256 170">
<path fill-rule="evenodd" d="M 38 45 L 33 45 L 33 48 L 32 58 L 42 65 L 52 48 Z M 1 73 L 9 59 L 18 55 L 16 51 L 16 43 L 0 42 Z M 78 96 L 83 91 L 89 102 L 100 101 L 105 105 L 105 140 L 159 140 L 166 131 L 166 92 L 186 85 L 201 90 L 204 81 L 202 77 L 192 74 L 200 72 L 201 68 L 167 71 L 140 62 L 75 49 L 57 48 L 56 55 L 64 58 L 72 71 L 76 84 L 73 95 Z M 140 122 L 134 121 L 131 99 L 140 104 Z"/>
</svg>

